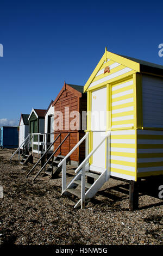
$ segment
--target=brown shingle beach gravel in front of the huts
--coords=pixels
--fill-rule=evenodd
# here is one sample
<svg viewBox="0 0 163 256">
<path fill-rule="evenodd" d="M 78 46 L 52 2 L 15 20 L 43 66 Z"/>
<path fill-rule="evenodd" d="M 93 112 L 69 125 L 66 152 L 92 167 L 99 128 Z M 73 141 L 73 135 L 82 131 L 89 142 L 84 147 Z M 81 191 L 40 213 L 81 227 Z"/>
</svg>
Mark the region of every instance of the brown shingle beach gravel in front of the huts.
<svg viewBox="0 0 163 256">
<path fill-rule="evenodd" d="M 139 210 L 129 211 L 128 183 L 110 179 L 84 210 L 61 196 L 55 180 L 25 178 L 32 164 L 21 166 L 14 150 L 0 150 L 0 245 L 162 245 L 159 197 L 140 193 Z M 68 169 L 68 168 L 67 168 Z M 74 169 L 67 171 L 71 180 Z M 159 190 L 157 194 L 159 193 Z"/>
</svg>

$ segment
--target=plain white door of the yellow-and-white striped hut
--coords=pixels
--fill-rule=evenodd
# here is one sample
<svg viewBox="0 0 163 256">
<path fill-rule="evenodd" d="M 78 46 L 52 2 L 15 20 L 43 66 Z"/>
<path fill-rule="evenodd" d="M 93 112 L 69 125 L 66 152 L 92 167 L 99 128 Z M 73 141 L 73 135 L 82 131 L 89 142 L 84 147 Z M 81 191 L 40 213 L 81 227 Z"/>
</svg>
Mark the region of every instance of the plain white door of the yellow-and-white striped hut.
<svg viewBox="0 0 163 256">
<path fill-rule="evenodd" d="M 92 148 L 95 149 L 106 135 L 106 87 L 92 92 Z M 91 170 L 105 170 L 105 142 L 92 156 Z"/>
</svg>

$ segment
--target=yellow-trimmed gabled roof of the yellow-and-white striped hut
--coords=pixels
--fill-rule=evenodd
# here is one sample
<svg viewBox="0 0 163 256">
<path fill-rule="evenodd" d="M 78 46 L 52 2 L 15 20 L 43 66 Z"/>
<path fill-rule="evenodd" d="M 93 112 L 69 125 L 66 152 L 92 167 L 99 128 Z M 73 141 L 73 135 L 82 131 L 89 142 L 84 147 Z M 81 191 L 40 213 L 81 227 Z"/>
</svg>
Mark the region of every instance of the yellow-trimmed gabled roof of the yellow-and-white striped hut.
<svg viewBox="0 0 163 256">
<path fill-rule="evenodd" d="M 87 88 L 89 88 L 91 82 L 97 75 L 98 71 L 101 69 L 101 66 L 104 62 L 109 60 L 113 60 L 116 63 L 119 63 L 123 66 L 126 66 L 127 68 L 136 71 L 136 72 L 145 72 L 148 74 L 154 74 L 154 75 L 161 75 L 163 76 L 163 66 L 146 62 L 145 60 L 140 60 L 132 57 L 123 56 L 120 54 L 115 54 L 112 52 L 108 52 L 105 48 L 105 53 L 103 54 L 101 60 L 97 64 L 95 70 L 93 70 L 91 76 L 89 77 L 89 80 L 87 80 L 85 86 L 84 86 L 84 92 L 86 92 Z"/>
</svg>

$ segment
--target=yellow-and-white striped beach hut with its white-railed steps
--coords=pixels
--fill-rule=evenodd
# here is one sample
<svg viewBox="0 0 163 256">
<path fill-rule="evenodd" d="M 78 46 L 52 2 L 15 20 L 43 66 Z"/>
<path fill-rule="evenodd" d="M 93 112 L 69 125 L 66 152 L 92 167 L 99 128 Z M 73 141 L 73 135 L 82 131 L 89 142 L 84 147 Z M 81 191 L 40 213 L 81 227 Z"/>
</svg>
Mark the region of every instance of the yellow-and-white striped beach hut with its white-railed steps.
<svg viewBox="0 0 163 256">
<path fill-rule="evenodd" d="M 121 179 L 130 184 L 134 210 L 140 180 L 163 174 L 163 66 L 105 49 L 84 92 L 87 154 L 68 186 L 65 160 L 59 164 L 64 169 L 62 193 L 81 197 L 75 207 L 84 208 L 110 177 Z M 92 185 L 85 183 L 85 175 L 94 178 Z M 77 184 L 82 184 L 80 192 Z"/>
</svg>

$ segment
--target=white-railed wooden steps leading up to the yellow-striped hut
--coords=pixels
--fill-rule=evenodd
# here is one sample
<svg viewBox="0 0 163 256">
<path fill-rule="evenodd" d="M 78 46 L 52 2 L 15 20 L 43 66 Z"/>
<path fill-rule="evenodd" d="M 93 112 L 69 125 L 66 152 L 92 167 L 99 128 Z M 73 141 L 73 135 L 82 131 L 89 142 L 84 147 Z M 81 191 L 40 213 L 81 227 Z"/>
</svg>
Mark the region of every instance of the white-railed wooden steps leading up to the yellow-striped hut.
<svg viewBox="0 0 163 256">
<path fill-rule="evenodd" d="M 74 205 L 74 208 L 81 206 L 81 209 L 85 208 L 85 203 L 95 196 L 97 191 L 103 186 L 103 184 L 110 178 L 110 134 L 107 132 L 101 142 L 89 153 L 89 132 L 80 139 L 76 146 L 65 156 L 65 158 L 58 164 L 58 167 L 62 167 L 62 195 L 73 195 L 78 198 L 78 202 Z M 74 150 L 86 139 L 86 152 L 85 159 L 79 164 L 75 170 L 76 176 L 72 179 L 70 184 L 66 182 L 66 159 L 70 157 Z M 103 171 L 97 170 L 94 172 L 90 170 L 90 157 L 96 152 L 96 150 L 106 143 L 106 168 Z M 89 180 L 91 179 L 91 182 Z"/>
</svg>

